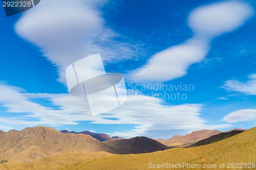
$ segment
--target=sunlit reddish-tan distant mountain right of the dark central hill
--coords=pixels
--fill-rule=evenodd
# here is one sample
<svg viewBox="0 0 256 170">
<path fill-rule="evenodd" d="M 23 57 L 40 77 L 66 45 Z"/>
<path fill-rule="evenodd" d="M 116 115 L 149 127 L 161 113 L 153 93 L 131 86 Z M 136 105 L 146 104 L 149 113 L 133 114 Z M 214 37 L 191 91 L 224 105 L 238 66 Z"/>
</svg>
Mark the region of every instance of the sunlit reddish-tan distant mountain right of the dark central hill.
<svg viewBox="0 0 256 170">
<path fill-rule="evenodd" d="M 208 138 L 212 135 L 217 135 L 221 133 L 219 130 L 199 130 L 193 131 L 185 136 L 182 135 L 175 135 L 174 137 L 167 139 L 167 140 L 158 140 L 159 142 L 172 147 L 191 145 L 196 143 L 199 140 Z"/>
</svg>

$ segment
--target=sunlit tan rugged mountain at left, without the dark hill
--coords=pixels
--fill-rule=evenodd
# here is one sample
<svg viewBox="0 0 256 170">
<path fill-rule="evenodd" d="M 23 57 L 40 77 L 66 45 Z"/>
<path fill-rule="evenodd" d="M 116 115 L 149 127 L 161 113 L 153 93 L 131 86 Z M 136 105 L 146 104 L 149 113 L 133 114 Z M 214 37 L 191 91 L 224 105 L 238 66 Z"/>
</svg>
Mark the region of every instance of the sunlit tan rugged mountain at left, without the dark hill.
<svg viewBox="0 0 256 170">
<path fill-rule="evenodd" d="M 10 130 L 0 134 L 0 157 L 9 162 L 26 162 L 75 151 L 119 153 L 89 135 L 65 134 L 49 127 Z"/>
</svg>

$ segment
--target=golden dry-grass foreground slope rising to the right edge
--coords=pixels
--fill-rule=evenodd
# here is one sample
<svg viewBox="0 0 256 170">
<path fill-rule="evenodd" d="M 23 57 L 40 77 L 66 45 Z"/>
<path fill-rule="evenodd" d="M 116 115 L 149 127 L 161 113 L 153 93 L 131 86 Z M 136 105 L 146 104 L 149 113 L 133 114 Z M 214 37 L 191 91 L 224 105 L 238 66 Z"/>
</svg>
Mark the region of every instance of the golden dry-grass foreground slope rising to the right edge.
<svg viewBox="0 0 256 170">
<path fill-rule="evenodd" d="M 185 162 L 218 165 L 219 163 L 227 164 L 228 162 L 256 163 L 256 127 L 230 138 L 200 147 L 176 148 L 147 154 L 112 155 L 85 160 L 62 169 L 148 169 L 148 163 L 150 162 L 153 164 Z M 216 170 L 216 168 L 212 169 Z"/>
</svg>

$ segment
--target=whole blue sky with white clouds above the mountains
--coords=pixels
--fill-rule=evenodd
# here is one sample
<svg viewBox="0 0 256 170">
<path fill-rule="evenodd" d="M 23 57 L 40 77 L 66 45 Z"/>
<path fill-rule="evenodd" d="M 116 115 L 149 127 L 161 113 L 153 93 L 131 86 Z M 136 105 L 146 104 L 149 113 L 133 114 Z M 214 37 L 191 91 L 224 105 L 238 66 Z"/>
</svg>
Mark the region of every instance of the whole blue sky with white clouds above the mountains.
<svg viewBox="0 0 256 170">
<path fill-rule="evenodd" d="M 255 7 L 252 0 L 42 0 L 10 17 L 1 7 L 0 129 L 169 138 L 252 128 Z M 123 74 L 127 100 L 92 116 L 69 94 L 65 69 L 97 53 L 106 72 Z M 148 89 L 157 85 L 193 89 Z"/>
</svg>

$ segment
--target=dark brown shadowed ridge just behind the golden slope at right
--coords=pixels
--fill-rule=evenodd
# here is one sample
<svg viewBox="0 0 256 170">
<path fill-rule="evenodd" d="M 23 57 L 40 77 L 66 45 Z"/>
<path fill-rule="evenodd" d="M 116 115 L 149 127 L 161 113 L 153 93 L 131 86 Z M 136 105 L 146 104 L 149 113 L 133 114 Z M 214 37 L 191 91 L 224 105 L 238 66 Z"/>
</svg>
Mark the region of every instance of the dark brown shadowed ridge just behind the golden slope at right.
<svg viewBox="0 0 256 170">
<path fill-rule="evenodd" d="M 214 143 L 214 142 L 229 138 L 231 136 L 237 135 L 241 132 L 244 132 L 244 130 L 232 130 L 232 131 L 223 132 L 223 133 L 220 133 L 218 135 L 213 135 L 213 136 L 210 136 L 206 139 L 200 140 L 200 141 L 198 141 L 194 144 L 191 144 L 190 146 L 188 146 L 186 148 L 198 147 L 198 146 L 201 146 L 201 145 Z"/>
</svg>

